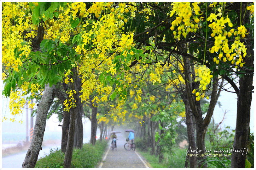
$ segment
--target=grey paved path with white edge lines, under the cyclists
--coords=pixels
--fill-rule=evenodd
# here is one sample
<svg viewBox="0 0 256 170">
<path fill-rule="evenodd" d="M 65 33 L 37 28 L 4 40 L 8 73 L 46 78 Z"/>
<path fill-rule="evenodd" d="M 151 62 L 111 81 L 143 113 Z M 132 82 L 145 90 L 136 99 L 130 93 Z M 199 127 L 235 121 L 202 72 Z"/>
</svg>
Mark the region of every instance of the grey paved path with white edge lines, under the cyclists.
<svg viewBox="0 0 256 170">
<path fill-rule="evenodd" d="M 125 139 L 129 133 L 120 130 L 121 133 L 117 133 L 117 148 L 112 150 L 111 141 L 108 142 L 108 149 L 104 154 L 102 162 L 99 168 L 149 168 L 148 163 L 145 159 L 135 151 L 126 151 L 124 145 Z"/>
</svg>

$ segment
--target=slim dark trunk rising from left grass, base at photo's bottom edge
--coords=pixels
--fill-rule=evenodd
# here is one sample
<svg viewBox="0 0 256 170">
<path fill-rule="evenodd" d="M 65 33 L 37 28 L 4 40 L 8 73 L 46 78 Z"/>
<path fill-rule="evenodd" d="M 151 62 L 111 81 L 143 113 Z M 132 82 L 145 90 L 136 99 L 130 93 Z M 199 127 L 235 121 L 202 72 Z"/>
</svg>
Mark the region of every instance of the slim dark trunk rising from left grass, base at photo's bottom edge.
<svg viewBox="0 0 256 170">
<path fill-rule="evenodd" d="M 69 131 L 68 131 L 67 148 L 66 148 L 65 159 L 64 159 L 64 168 L 71 167 L 74 134 L 75 134 L 75 121 L 76 121 L 75 108 L 71 108 L 70 109 L 70 124 L 69 124 Z"/>
</svg>

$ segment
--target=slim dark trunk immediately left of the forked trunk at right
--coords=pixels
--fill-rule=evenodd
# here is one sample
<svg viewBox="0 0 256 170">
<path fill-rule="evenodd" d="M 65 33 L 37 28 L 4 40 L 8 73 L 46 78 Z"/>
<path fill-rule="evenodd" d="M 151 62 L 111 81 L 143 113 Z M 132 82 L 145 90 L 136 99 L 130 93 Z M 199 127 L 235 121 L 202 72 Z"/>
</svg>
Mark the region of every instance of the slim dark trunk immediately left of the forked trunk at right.
<svg viewBox="0 0 256 170">
<path fill-rule="evenodd" d="M 193 113 L 190 109 L 189 106 L 189 101 L 186 95 L 182 95 L 182 100 L 185 104 L 185 114 L 186 114 L 186 125 L 187 125 L 187 132 L 188 132 L 188 140 L 189 140 L 189 148 L 188 151 L 190 150 L 196 150 L 196 143 L 195 143 L 195 131 L 194 131 L 194 123 L 193 123 Z M 189 160 L 190 163 L 190 168 L 196 168 L 197 162 L 196 162 L 196 157 L 188 157 L 186 156 L 186 160 Z M 185 167 L 186 167 L 185 162 Z"/>
</svg>

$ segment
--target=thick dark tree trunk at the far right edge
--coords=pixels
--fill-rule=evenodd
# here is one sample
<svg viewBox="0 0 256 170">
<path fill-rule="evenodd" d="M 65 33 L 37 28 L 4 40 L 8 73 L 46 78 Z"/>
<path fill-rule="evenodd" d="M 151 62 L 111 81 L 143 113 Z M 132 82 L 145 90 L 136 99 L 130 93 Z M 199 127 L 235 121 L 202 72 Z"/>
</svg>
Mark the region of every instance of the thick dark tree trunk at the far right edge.
<svg viewBox="0 0 256 170">
<path fill-rule="evenodd" d="M 243 11 L 246 8 L 247 3 L 242 3 Z M 243 12 L 242 11 L 242 12 Z M 250 21 L 249 10 L 246 10 L 243 25 L 249 24 Z M 253 38 L 253 30 L 247 28 L 249 35 L 246 38 Z M 252 102 L 252 91 L 253 91 L 253 68 L 254 68 L 254 51 L 253 51 L 253 40 L 244 41 L 247 47 L 247 56 L 244 59 L 245 72 L 249 74 L 244 74 L 239 79 L 239 93 L 237 99 L 237 112 L 236 112 L 236 133 L 234 138 L 233 148 L 234 151 L 239 151 L 240 149 L 246 148 L 246 143 L 248 141 L 248 136 L 250 134 L 250 115 L 251 115 L 251 102 Z M 250 56 L 250 57 L 248 57 Z M 251 70 L 250 70 L 251 69 Z M 245 153 L 232 152 L 231 157 L 231 168 L 245 168 Z"/>
</svg>

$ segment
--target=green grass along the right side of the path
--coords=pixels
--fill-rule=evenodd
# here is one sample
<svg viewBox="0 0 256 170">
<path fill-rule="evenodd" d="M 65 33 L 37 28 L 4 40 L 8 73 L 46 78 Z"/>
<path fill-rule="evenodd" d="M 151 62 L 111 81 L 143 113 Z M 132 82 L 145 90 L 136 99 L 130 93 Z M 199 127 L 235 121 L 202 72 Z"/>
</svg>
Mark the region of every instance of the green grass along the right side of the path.
<svg viewBox="0 0 256 170">
<path fill-rule="evenodd" d="M 172 155 L 169 153 L 164 154 L 164 160 L 159 163 L 158 156 L 150 155 L 150 151 L 137 150 L 151 165 L 152 168 L 184 168 L 186 159 L 186 148 L 179 149 L 179 147 L 174 147 Z"/>
</svg>

